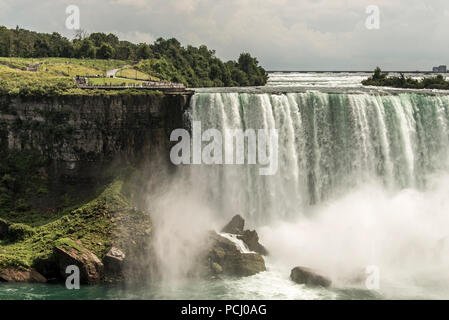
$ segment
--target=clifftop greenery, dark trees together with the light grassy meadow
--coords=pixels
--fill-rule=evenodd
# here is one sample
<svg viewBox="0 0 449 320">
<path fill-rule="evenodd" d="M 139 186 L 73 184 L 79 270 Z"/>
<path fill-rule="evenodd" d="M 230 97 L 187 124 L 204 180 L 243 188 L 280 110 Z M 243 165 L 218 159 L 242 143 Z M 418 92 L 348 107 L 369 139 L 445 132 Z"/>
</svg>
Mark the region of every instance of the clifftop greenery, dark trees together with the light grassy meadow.
<svg viewBox="0 0 449 320">
<path fill-rule="evenodd" d="M 268 80 L 266 71 L 249 53 L 240 54 L 237 61 L 223 62 L 214 50 L 204 45 L 184 47 L 174 38 L 159 38 L 153 44 L 133 44 L 113 34 L 96 32 L 87 37 L 80 33 L 70 41 L 56 32 L 45 34 L 0 26 L 0 57 L 22 58 L 0 59 L 0 65 L 22 71 L 44 70 L 52 79 L 36 80 L 42 86 L 60 86 L 61 90 L 69 86 L 64 78 L 68 80 L 67 77 L 76 74 L 103 75 L 107 69 L 125 64 L 133 66 L 123 71 L 122 76 L 132 75 L 132 78 L 137 71 L 139 79 L 157 78 L 182 82 L 189 87 L 255 86 L 264 85 Z M 45 62 L 52 65 L 46 66 Z M 1 80 L 5 80 L 3 76 Z"/>
</svg>

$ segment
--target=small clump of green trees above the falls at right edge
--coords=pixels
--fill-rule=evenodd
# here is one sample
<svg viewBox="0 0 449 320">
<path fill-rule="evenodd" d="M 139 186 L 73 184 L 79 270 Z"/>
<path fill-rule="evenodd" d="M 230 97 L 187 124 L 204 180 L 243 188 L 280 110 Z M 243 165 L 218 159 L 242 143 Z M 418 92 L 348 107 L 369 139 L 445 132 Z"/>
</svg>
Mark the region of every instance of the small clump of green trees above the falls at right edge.
<svg viewBox="0 0 449 320">
<path fill-rule="evenodd" d="M 364 86 L 394 87 L 407 89 L 440 89 L 449 90 L 449 81 L 445 80 L 442 75 L 435 77 L 423 78 L 421 80 L 405 77 L 402 73 L 399 77 L 388 76 L 388 73 L 382 72 L 377 67 L 374 74 L 366 80 L 362 81 Z"/>
</svg>

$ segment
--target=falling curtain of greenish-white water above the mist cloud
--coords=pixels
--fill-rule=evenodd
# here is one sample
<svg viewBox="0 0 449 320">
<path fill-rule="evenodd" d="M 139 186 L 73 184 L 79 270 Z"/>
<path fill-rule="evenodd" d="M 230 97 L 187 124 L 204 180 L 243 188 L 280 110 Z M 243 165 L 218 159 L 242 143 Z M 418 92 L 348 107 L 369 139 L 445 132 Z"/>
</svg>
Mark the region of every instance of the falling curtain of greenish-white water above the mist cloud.
<svg viewBox="0 0 449 320">
<path fill-rule="evenodd" d="M 367 182 L 425 189 L 449 164 L 449 96 L 197 93 L 191 109 L 203 130 L 278 129 L 273 176 L 251 165 L 192 168 L 222 214 L 254 222 L 297 217 Z"/>
</svg>

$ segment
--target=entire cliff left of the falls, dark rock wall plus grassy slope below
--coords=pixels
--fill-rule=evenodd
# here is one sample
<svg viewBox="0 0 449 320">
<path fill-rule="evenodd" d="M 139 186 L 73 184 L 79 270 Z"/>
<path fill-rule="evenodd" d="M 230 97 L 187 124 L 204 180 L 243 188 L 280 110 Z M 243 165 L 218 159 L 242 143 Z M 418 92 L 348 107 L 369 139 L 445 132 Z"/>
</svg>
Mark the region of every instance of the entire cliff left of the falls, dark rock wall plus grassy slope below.
<svg viewBox="0 0 449 320">
<path fill-rule="evenodd" d="M 18 266 L 58 278 L 61 239 L 100 258 L 118 245 L 141 259 L 151 220 L 136 207 L 149 177 L 171 169 L 169 136 L 183 127 L 189 100 L 188 93 L 0 96 L 0 240 L 8 239 L 0 241 L 0 269 L 16 279 L 33 280 Z"/>
</svg>

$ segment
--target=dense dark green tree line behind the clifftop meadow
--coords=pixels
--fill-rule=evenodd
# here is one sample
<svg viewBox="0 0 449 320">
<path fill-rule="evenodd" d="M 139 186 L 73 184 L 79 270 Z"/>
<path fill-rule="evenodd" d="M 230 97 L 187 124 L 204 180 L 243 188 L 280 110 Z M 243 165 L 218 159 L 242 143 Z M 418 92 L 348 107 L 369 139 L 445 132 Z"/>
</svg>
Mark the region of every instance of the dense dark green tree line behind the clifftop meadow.
<svg viewBox="0 0 449 320">
<path fill-rule="evenodd" d="M 73 40 L 51 34 L 0 26 L 0 56 L 21 58 L 118 59 L 139 61 L 136 68 L 190 87 L 265 85 L 267 72 L 249 53 L 223 62 L 205 45 L 184 47 L 174 39 L 135 44 L 102 32 L 79 31 Z"/>
</svg>

